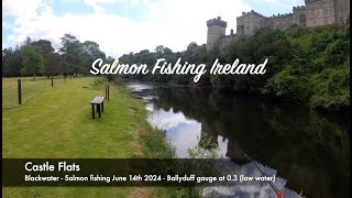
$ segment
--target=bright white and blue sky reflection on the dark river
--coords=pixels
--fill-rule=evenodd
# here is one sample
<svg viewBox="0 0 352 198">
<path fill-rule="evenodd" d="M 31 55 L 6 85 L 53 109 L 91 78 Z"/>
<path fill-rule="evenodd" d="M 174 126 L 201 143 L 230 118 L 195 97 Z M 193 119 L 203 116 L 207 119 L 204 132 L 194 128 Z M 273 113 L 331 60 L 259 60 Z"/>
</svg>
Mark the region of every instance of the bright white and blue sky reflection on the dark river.
<svg viewBox="0 0 352 198">
<path fill-rule="evenodd" d="M 131 84 L 128 87 L 132 88 L 132 91 L 143 91 L 145 89 L 152 89 L 151 86 Z M 153 96 L 143 96 L 142 99 L 145 103 L 145 109 L 148 111 L 148 122 L 158 129 L 166 131 L 166 138 L 172 146 L 175 147 L 177 157 L 188 157 L 188 148 L 195 147 L 201 134 L 201 123 L 187 119 L 183 112 L 175 113 L 173 109 L 168 111 L 156 108 L 153 103 Z M 218 148 L 217 154 L 220 157 L 228 158 L 226 156 L 228 152 L 229 140 L 221 135 L 218 135 Z M 266 175 L 276 175 L 276 169 L 264 166 L 261 163 L 256 164 Z M 244 175 L 244 176 L 262 176 L 261 172 L 254 166 L 253 163 L 239 165 L 229 162 L 231 174 Z M 282 189 L 285 198 L 301 197 L 296 191 L 286 188 L 286 179 L 276 177 L 275 186 Z M 235 183 L 231 187 L 205 187 L 202 189 L 202 197 L 233 197 L 233 198 L 271 198 L 277 197 L 274 190 L 266 183 Z"/>
</svg>

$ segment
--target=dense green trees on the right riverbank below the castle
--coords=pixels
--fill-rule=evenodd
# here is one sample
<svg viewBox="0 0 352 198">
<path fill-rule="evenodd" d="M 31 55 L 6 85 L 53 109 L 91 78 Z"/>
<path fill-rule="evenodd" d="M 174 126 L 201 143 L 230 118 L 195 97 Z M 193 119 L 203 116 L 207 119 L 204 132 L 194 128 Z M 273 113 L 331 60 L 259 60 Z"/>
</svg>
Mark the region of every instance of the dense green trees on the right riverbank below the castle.
<svg viewBox="0 0 352 198">
<path fill-rule="evenodd" d="M 119 58 L 122 63 L 147 64 L 156 58 L 175 63 L 178 57 L 188 63 L 207 64 L 213 61 L 232 64 L 237 58 L 244 64 L 258 64 L 268 58 L 265 75 L 209 75 L 198 84 L 191 75 L 129 75 L 125 78 L 218 89 L 254 92 L 286 101 L 306 103 L 314 108 L 345 110 L 350 107 L 350 24 L 287 31 L 261 29 L 243 35 L 221 50 L 207 52 L 206 45 L 190 43 L 184 52 L 172 52 L 157 46 L 155 52 L 141 51 Z"/>
</svg>

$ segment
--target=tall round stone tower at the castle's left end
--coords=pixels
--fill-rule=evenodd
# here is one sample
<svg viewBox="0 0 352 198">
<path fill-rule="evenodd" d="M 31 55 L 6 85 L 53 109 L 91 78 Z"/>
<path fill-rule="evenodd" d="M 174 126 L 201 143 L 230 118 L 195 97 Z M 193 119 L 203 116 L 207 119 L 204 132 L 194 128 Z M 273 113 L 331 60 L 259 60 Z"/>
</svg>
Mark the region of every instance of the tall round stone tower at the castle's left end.
<svg viewBox="0 0 352 198">
<path fill-rule="evenodd" d="M 207 21 L 207 51 L 220 47 L 220 37 L 226 35 L 228 23 L 222 21 L 220 16 Z"/>
</svg>

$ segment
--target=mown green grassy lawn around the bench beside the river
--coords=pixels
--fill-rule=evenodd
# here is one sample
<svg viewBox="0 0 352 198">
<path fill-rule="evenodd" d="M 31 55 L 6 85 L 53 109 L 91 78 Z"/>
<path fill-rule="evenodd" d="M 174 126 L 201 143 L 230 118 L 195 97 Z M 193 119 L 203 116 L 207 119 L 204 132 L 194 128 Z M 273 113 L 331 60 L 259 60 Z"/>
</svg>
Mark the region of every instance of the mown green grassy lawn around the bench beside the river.
<svg viewBox="0 0 352 198">
<path fill-rule="evenodd" d="M 129 91 L 110 84 L 102 118 L 91 119 L 89 101 L 105 95 L 102 78 L 23 79 L 22 106 L 16 79 L 2 79 L 3 158 L 131 158 L 167 157 L 163 135 L 145 120 L 143 105 Z M 26 84 L 24 86 L 24 84 Z M 4 197 L 155 197 L 165 188 L 7 187 Z M 163 196 L 162 196 L 163 197 Z"/>
</svg>

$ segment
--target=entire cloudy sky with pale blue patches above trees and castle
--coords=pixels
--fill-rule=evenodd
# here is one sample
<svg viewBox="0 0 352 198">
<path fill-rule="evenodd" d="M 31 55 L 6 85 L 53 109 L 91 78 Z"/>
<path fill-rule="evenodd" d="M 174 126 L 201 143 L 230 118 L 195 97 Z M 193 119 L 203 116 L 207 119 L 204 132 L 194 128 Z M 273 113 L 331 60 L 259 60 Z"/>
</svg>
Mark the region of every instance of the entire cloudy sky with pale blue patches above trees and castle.
<svg viewBox="0 0 352 198">
<path fill-rule="evenodd" d="M 221 16 L 227 34 L 242 12 L 292 13 L 304 0 L 2 0 L 2 50 L 30 36 L 61 47 L 65 33 L 95 41 L 108 56 L 157 45 L 174 52 L 207 42 L 207 20 Z"/>
</svg>

